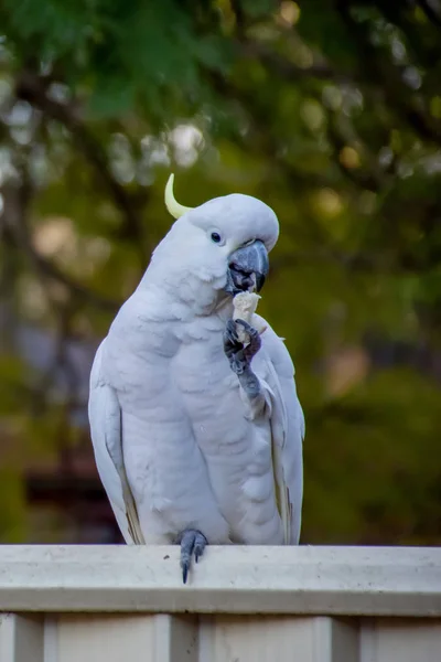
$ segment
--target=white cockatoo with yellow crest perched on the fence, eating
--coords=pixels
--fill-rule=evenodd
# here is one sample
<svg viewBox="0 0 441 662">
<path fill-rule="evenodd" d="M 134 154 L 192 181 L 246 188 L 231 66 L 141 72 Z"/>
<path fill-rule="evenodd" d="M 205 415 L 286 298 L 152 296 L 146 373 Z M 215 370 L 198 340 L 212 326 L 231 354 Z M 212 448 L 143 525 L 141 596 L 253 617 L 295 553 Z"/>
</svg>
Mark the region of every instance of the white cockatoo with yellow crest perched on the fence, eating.
<svg viewBox="0 0 441 662">
<path fill-rule="evenodd" d="M 88 410 L 126 542 L 179 544 L 185 583 L 208 543 L 298 544 L 304 418 L 282 339 L 252 310 L 233 319 L 263 285 L 276 214 L 241 194 L 185 207 L 173 175 L 165 204 L 176 221 L 98 348 Z"/>
</svg>

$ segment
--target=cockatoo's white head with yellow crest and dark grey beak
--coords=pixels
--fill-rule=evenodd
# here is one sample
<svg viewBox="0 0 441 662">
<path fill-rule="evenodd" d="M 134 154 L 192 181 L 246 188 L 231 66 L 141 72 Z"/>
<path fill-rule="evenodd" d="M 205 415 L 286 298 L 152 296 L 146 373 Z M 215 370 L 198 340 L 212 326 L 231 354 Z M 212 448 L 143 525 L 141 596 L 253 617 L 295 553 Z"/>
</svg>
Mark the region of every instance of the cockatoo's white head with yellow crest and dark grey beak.
<svg viewBox="0 0 441 662">
<path fill-rule="evenodd" d="M 197 207 L 181 205 L 173 194 L 173 174 L 165 188 L 165 205 L 176 218 L 153 253 L 163 278 L 176 286 L 208 285 L 232 297 L 259 291 L 268 274 L 268 253 L 279 235 L 275 212 L 250 195 L 215 197 Z M 197 285 L 196 285 L 197 287 Z M 224 293 L 224 296 L 225 296 Z"/>
</svg>

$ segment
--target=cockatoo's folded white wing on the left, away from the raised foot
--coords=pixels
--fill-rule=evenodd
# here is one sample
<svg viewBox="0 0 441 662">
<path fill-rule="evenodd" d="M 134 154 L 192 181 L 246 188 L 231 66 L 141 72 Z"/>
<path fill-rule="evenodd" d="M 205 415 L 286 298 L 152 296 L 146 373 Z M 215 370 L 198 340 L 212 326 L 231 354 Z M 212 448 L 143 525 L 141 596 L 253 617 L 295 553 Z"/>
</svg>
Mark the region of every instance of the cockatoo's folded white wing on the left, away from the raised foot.
<svg viewBox="0 0 441 662">
<path fill-rule="evenodd" d="M 144 537 L 123 463 L 121 409 L 115 389 L 103 378 L 105 342 L 98 348 L 90 373 L 88 412 L 95 461 L 126 543 L 142 545 Z"/>
</svg>

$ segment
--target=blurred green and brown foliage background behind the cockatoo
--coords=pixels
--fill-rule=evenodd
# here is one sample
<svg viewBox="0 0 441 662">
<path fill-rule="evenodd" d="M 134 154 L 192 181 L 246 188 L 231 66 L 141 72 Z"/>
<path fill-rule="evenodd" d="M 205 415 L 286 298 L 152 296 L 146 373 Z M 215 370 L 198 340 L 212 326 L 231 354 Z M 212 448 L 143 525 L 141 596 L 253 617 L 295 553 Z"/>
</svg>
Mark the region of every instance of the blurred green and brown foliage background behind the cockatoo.
<svg viewBox="0 0 441 662">
<path fill-rule="evenodd" d="M 3 0 L 0 540 L 112 542 L 94 352 L 171 224 L 256 195 L 303 543 L 441 542 L 439 0 Z"/>
</svg>

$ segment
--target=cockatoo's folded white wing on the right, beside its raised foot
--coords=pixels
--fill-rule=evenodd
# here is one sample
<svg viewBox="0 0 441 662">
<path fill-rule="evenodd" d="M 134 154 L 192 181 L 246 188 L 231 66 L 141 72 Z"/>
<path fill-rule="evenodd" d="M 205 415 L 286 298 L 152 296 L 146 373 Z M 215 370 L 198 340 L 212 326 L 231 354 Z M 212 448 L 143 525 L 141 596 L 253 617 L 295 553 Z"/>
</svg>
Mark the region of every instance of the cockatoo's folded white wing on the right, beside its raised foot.
<svg viewBox="0 0 441 662">
<path fill-rule="evenodd" d="M 265 320 L 261 320 L 266 324 Z M 284 543 L 298 544 L 303 499 L 304 417 L 297 396 L 294 366 L 282 341 L 268 325 L 262 334 L 265 381 L 271 398 L 272 463 Z"/>
</svg>

